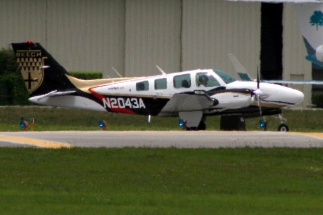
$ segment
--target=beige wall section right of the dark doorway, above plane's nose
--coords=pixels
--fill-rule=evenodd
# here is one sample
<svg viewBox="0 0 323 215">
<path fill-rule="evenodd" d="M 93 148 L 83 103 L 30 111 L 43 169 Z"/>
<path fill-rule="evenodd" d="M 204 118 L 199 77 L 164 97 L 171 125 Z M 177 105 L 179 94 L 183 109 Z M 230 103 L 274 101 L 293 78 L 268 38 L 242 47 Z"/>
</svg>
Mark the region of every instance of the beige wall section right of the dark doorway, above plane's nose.
<svg viewBox="0 0 323 215">
<path fill-rule="evenodd" d="M 292 4 L 284 4 L 283 26 L 283 79 L 293 80 L 298 77 L 312 80 L 312 65 L 305 60 L 307 51 Z M 311 104 L 311 85 L 290 85 L 289 87 L 301 90 L 305 94 L 303 107 Z"/>
</svg>

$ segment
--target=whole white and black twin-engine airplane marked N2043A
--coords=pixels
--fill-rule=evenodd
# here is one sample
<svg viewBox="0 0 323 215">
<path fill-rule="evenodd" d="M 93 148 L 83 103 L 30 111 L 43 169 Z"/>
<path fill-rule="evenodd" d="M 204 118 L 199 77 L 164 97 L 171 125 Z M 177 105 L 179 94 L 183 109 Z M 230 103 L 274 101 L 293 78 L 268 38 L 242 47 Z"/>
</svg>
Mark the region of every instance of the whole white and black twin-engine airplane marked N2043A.
<svg viewBox="0 0 323 215">
<path fill-rule="evenodd" d="M 205 129 L 210 115 L 280 114 L 303 101 L 300 91 L 275 84 L 242 82 L 213 69 L 140 78 L 79 80 L 39 43 L 12 43 L 29 101 L 97 111 L 179 116 L 187 129 Z"/>
</svg>

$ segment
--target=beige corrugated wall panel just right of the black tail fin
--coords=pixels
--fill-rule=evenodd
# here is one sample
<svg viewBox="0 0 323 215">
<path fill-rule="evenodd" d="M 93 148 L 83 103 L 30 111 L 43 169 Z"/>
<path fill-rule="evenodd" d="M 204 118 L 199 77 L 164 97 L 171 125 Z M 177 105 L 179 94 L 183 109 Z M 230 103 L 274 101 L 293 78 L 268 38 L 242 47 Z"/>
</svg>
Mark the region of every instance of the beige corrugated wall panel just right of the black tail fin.
<svg viewBox="0 0 323 215">
<path fill-rule="evenodd" d="M 72 70 L 124 71 L 124 1 L 48 1 L 47 48 Z M 64 48 L 62 48 L 62 46 Z"/>
</svg>

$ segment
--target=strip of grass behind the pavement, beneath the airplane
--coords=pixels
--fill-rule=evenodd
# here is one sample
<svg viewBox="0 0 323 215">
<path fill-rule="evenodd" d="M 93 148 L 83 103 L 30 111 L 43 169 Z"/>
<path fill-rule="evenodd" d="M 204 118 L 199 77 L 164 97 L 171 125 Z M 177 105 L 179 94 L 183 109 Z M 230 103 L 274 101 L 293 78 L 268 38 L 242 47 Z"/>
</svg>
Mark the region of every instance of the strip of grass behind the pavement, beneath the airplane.
<svg viewBox="0 0 323 215">
<path fill-rule="evenodd" d="M 321 132 L 323 130 L 323 110 L 284 110 L 291 131 Z M 0 131 L 20 131 L 20 118 L 36 118 L 35 130 L 100 130 L 98 121 L 107 121 L 108 130 L 181 130 L 178 117 L 152 117 L 148 123 L 146 116 L 115 114 L 88 110 L 51 108 L 41 106 L 1 107 Z M 262 130 L 260 118 L 246 119 L 247 130 Z M 280 121 L 267 116 L 268 130 L 277 130 Z M 206 118 L 207 130 L 220 129 L 220 116 Z"/>
</svg>

